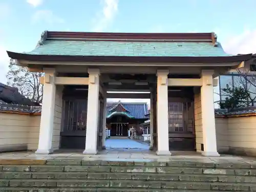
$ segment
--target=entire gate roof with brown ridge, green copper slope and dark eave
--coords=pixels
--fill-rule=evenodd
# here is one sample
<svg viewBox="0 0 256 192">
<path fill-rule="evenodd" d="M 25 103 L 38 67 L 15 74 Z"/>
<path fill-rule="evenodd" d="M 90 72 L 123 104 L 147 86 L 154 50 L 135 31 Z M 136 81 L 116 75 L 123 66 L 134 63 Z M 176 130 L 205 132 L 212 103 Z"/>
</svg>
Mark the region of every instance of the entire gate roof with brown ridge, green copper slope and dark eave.
<svg viewBox="0 0 256 192">
<path fill-rule="evenodd" d="M 34 50 L 7 53 L 14 59 L 40 61 L 236 62 L 251 58 L 251 54 L 225 53 L 215 33 L 45 31 Z"/>
</svg>

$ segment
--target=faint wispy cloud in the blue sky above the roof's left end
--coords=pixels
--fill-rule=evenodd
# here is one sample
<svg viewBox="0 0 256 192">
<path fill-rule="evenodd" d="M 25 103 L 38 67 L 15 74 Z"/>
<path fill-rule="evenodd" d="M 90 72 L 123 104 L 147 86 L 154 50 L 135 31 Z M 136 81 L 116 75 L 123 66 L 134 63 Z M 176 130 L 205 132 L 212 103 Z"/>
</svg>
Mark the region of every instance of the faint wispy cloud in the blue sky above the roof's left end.
<svg viewBox="0 0 256 192">
<path fill-rule="evenodd" d="M 39 10 L 32 16 L 32 22 L 45 22 L 47 24 L 64 23 L 65 20 L 54 15 L 51 10 Z"/>
</svg>

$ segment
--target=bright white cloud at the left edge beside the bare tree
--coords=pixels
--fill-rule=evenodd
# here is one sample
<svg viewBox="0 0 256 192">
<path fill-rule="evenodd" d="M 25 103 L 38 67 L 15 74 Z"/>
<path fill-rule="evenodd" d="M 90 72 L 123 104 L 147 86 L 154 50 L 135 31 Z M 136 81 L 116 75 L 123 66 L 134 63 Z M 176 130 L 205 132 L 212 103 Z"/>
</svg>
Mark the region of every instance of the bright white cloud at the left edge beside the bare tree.
<svg viewBox="0 0 256 192">
<path fill-rule="evenodd" d="M 6 74 L 8 72 L 9 57 L 6 53 L 6 48 L 0 45 L 0 82 L 6 83 Z"/>
</svg>

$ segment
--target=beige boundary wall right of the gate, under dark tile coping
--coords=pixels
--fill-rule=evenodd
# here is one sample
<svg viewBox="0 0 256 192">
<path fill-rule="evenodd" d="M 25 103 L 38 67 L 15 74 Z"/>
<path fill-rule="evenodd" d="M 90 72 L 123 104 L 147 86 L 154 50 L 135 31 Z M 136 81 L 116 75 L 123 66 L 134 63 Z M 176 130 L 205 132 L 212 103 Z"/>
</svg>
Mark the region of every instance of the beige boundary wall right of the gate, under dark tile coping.
<svg viewBox="0 0 256 192">
<path fill-rule="evenodd" d="M 220 153 L 256 156 L 256 116 L 216 117 Z"/>
</svg>

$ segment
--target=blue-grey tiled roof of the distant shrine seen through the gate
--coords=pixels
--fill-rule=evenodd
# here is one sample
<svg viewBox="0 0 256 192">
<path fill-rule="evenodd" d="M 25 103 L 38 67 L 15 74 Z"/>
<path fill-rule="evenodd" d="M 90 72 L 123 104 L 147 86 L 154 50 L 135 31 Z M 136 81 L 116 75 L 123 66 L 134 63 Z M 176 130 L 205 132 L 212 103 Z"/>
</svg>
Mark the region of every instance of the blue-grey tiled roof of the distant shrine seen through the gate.
<svg viewBox="0 0 256 192">
<path fill-rule="evenodd" d="M 107 117 L 113 113 L 112 109 L 115 108 L 117 104 L 120 104 L 120 102 L 108 102 L 106 104 Z M 125 109 L 127 109 L 127 115 L 135 119 L 147 119 L 147 117 L 145 116 L 148 111 L 146 102 L 121 102 L 121 104 Z"/>
</svg>

